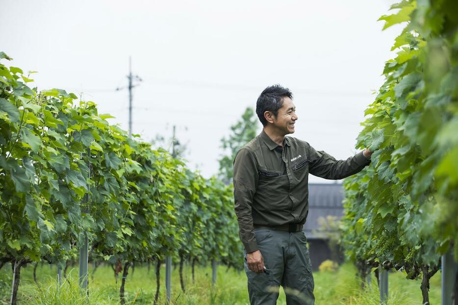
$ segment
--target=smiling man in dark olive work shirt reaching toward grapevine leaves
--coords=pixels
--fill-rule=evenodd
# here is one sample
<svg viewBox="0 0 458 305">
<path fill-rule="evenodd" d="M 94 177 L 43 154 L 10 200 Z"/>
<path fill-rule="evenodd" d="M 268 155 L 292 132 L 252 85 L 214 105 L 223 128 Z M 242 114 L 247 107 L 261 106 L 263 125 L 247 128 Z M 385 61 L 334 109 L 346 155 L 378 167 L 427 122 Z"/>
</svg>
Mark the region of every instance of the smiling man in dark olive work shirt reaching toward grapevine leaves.
<svg viewBox="0 0 458 305">
<path fill-rule="evenodd" d="M 267 87 L 256 102 L 262 132 L 234 160 L 235 213 L 244 245 L 252 305 L 275 305 L 283 286 L 288 305 L 313 305 L 313 276 L 303 227 L 308 214 L 308 174 L 342 179 L 370 163 L 365 150 L 337 161 L 293 137 L 298 119 L 293 95 Z"/>
</svg>

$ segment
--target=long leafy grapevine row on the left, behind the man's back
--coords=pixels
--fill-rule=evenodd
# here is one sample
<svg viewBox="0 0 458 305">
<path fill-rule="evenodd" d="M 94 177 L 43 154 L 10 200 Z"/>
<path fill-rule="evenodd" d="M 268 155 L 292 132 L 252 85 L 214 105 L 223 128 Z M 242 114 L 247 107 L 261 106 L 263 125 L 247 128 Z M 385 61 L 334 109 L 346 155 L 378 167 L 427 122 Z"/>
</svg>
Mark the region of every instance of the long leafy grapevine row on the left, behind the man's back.
<svg viewBox="0 0 458 305">
<path fill-rule="evenodd" d="M 230 185 L 129 138 L 94 102 L 32 81 L 0 63 L 2 265 L 43 259 L 63 269 L 87 237 L 91 258 L 126 276 L 132 263 L 166 255 L 241 268 Z"/>
</svg>

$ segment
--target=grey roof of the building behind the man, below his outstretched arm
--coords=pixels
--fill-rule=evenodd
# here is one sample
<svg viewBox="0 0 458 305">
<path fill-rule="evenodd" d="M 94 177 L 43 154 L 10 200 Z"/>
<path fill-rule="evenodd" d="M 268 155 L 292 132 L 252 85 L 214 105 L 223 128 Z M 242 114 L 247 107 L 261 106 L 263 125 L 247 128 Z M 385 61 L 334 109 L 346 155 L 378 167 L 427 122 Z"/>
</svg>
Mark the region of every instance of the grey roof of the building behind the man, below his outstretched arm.
<svg viewBox="0 0 458 305">
<path fill-rule="evenodd" d="M 341 183 L 309 183 L 308 184 L 308 216 L 304 231 L 307 238 L 318 238 L 316 231 L 320 229 L 318 219 L 328 215 L 343 216 L 342 201 L 344 188 Z"/>
</svg>

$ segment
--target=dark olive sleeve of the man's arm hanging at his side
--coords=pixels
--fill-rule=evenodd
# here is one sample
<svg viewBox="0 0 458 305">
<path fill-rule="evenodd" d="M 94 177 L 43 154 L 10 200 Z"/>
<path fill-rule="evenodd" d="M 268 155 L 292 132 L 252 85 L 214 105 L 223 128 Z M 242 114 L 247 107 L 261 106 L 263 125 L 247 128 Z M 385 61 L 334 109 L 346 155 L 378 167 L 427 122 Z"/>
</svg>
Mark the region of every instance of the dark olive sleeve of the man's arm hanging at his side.
<svg viewBox="0 0 458 305">
<path fill-rule="evenodd" d="M 253 228 L 253 196 L 258 183 L 257 165 L 248 149 L 241 149 L 234 160 L 234 203 L 240 240 L 247 253 L 259 250 Z"/>
</svg>

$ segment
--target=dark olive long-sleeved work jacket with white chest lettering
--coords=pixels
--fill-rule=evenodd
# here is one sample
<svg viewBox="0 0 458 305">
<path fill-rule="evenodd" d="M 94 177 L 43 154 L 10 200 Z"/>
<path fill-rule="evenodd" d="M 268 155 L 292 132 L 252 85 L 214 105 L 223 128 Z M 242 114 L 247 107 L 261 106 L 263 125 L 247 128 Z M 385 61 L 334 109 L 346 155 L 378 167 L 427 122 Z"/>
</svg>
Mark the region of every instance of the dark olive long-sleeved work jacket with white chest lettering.
<svg viewBox="0 0 458 305">
<path fill-rule="evenodd" d="M 370 160 L 362 152 L 336 160 L 307 142 L 288 137 L 283 147 L 265 132 L 243 147 L 234 160 L 234 200 L 239 235 L 248 253 L 258 250 L 254 225 L 304 224 L 308 214 L 308 174 L 342 179 Z"/>
</svg>

